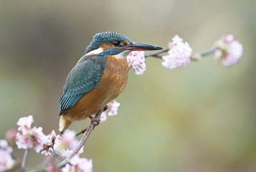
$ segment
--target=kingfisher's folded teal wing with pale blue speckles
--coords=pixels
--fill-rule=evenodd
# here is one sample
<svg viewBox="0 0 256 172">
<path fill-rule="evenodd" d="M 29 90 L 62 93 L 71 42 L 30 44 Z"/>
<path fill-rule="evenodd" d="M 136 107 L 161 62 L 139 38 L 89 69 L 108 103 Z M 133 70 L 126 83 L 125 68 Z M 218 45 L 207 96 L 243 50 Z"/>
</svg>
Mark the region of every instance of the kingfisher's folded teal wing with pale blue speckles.
<svg viewBox="0 0 256 172">
<path fill-rule="evenodd" d="M 93 56 L 77 63 L 69 72 L 60 100 L 61 111 L 73 107 L 84 93 L 97 88 L 106 58 Z"/>
</svg>

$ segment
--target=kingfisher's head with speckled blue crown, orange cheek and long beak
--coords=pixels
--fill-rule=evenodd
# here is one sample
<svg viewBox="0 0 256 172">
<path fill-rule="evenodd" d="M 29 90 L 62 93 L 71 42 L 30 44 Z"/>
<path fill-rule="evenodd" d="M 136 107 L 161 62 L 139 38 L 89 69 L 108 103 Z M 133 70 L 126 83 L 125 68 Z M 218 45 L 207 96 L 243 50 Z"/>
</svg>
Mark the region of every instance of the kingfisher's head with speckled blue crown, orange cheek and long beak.
<svg viewBox="0 0 256 172">
<path fill-rule="evenodd" d="M 161 50 L 162 47 L 145 43 L 132 42 L 127 36 L 116 32 L 102 32 L 93 36 L 93 40 L 86 48 L 86 56 L 98 54 L 99 56 L 115 56 L 126 58 L 131 51 Z"/>
</svg>

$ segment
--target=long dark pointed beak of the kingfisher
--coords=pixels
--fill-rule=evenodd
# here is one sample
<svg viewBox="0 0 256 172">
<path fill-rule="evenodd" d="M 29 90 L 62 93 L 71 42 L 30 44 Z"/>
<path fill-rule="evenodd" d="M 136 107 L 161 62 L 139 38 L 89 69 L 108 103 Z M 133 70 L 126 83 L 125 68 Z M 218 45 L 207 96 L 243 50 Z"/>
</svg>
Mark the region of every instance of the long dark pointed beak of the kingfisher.
<svg viewBox="0 0 256 172">
<path fill-rule="evenodd" d="M 158 47 L 156 45 L 149 45 L 146 43 L 132 42 L 130 45 L 126 45 L 122 47 L 122 49 L 126 49 L 129 51 L 152 51 L 152 50 L 161 50 L 163 48 Z"/>
</svg>

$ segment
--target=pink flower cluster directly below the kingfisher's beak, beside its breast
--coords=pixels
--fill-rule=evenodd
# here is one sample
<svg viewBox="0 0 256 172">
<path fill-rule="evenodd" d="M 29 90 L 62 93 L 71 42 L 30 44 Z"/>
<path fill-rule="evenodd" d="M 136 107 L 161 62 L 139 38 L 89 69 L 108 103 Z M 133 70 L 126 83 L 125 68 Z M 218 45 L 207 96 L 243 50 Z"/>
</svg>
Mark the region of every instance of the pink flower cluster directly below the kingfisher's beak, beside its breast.
<svg viewBox="0 0 256 172">
<path fill-rule="evenodd" d="M 127 56 L 129 65 L 136 75 L 143 75 L 146 70 L 144 51 L 132 51 Z"/>
</svg>

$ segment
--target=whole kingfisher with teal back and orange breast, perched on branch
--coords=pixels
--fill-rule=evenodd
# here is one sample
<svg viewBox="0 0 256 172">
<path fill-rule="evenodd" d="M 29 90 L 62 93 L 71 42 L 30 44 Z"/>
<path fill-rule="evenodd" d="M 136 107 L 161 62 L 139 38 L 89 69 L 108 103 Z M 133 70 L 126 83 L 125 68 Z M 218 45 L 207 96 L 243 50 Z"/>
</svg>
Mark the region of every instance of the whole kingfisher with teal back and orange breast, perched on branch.
<svg viewBox="0 0 256 172">
<path fill-rule="evenodd" d="M 83 120 L 106 107 L 124 90 L 131 51 L 154 51 L 162 47 L 132 42 L 116 32 L 93 36 L 84 56 L 69 72 L 60 98 L 59 130 L 67 129 L 73 121 Z M 99 121 L 98 121 L 99 122 Z"/>
</svg>

